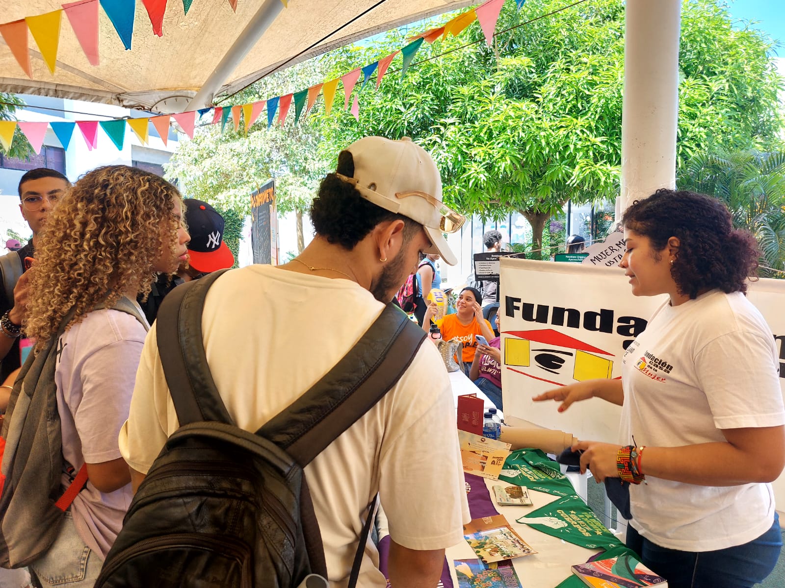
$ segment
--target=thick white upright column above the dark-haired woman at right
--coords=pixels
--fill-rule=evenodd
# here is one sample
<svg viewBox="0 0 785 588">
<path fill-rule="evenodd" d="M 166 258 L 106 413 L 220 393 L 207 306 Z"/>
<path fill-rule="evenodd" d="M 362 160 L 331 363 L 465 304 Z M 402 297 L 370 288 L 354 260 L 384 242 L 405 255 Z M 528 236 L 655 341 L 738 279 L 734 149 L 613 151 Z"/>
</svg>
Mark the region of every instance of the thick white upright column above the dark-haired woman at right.
<svg viewBox="0 0 785 588">
<path fill-rule="evenodd" d="M 626 0 L 621 194 L 616 218 L 676 187 L 681 0 Z"/>
</svg>

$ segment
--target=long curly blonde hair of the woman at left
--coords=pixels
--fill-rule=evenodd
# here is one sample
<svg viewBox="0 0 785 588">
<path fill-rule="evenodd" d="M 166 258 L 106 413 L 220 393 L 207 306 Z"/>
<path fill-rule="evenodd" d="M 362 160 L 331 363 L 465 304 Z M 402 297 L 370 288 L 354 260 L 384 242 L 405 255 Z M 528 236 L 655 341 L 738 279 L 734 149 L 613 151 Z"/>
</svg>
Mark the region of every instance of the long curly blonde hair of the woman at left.
<svg viewBox="0 0 785 588">
<path fill-rule="evenodd" d="M 46 341 L 71 308 L 67 328 L 97 303 L 113 305 L 130 288 L 146 296 L 166 227 L 176 233 L 181 226 L 172 214 L 180 200 L 166 180 L 127 165 L 93 169 L 68 188 L 38 237 L 27 336 Z M 173 256 L 175 241 L 169 242 Z"/>
</svg>

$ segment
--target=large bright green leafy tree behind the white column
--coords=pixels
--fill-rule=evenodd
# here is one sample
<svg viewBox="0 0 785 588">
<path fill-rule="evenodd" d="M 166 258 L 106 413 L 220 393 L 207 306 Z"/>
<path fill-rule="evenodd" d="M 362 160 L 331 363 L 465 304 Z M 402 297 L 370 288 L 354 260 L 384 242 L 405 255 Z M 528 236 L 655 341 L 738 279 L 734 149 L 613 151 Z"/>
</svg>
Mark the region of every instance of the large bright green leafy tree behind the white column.
<svg viewBox="0 0 785 588">
<path fill-rule="evenodd" d="M 524 24 L 570 3 L 529 0 L 518 11 L 506 2 L 496 30 L 511 30 L 493 49 L 473 24 L 458 38 L 424 43 L 402 82 L 396 57 L 378 92 L 363 89 L 359 122 L 340 112 L 339 89 L 334 111 L 321 114 L 324 145 L 334 153 L 367 134 L 411 136 L 433 153 L 447 201 L 485 219 L 521 212 L 540 249 L 543 227 L 568 199 L 618 192 L 623 2 L 594 0 Z M 727 9 L 711 0 L 685 2 L 683 16 L 679 162 L 712 141 L 775 143 L 782 120 L 771 43 L 749 27 L 733 29 Z M 340 49 L 330 75 L 405 43 L 392 31 L 374 45 Z"/>
</svg>

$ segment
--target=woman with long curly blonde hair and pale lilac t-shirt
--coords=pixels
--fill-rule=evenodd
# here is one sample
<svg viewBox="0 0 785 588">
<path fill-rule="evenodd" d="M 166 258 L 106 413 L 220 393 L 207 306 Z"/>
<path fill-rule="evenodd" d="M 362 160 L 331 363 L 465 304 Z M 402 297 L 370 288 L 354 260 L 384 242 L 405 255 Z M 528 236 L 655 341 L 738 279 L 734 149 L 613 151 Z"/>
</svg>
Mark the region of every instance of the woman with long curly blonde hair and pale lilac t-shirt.
<svg viewBox="0 0 785 588">
<path fill-rule="evenodd" d="M 25 330 L 39 342 L 59 336 L 54 379 L 63 456 L 88 474 L 57 539 L 30 565 L 42 586 L 63 578 L 73 579 L 73 588 L 93 586 L 130 504 L 117 439 L 148 329 L 137 293 L 150 291 L 156 272 L 173 272 L 186 259 L 181 202 L 159 176 L 102 167 L 64 194 L 40 236 Z M 118 303 L 126 310 L 115 310 Z M 64 473 L 63 485 L 72 477 Z"/>
</svg>

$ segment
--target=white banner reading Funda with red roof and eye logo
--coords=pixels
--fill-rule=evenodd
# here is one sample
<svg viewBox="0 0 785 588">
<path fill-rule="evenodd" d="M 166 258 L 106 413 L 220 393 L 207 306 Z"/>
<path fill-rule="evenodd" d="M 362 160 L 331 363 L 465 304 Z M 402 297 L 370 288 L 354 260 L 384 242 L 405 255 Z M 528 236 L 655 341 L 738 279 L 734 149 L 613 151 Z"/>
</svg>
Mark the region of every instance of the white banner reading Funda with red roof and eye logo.
<svg viewBox="0 0 785 588">
<path fill-rule="evenodd" d="M 502 259 L 500 281 L 504 412 L 581 439 L 618 441 L 621 407 L 592 398 L 559 413 L 557 402 L 531 397 L 585 379 L 620 378 L 624 350 L 666 295 L 633 296 L 618 267 L 577 263 Z M 776 337 L 783 385 L 785 280 L 755 281 L 748 296 Z M 785 475 L 774 488 L 785 510 Z"/>
</svg>

